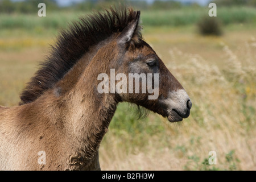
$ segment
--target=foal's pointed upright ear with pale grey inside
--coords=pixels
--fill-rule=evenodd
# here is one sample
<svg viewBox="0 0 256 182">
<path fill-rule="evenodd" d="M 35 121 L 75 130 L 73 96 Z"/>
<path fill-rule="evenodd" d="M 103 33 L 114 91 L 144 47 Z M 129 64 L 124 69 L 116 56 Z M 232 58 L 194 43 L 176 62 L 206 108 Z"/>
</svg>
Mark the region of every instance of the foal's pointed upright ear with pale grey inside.
<svg viewBox="0 0 256 182">
<path fill-rule="evenodd" d="M 130 42 L 131 38 L 133 38 L 134 32 L 139 24 L 139 15 L 141 15 L 141 11 L 136 12 L 136 17 L 133 21 L 131 21 L 122 31 L 122 33 L 118 36 L 118 43 L 125 44 Z"/>
</svg>

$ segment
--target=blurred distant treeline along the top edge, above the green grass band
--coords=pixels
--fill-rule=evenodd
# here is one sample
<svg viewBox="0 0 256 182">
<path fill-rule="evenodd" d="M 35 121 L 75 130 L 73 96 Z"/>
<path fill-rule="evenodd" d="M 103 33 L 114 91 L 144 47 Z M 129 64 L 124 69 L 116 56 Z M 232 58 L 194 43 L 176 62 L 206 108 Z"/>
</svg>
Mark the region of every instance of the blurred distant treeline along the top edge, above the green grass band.
<svg viewBox="0 0 256 182">
<path fill-rule="evenodd" d="M 161 1 L 155 0 L 152 3 L 147 3 L 146 1 L 134 1 L 134 0 L 87 0 L 81 1 L 79 3 L 73 3 L 68 7 L 60 7 L 57 5 L 55 0 L 24 0 L 24 1 L 11 1 L 11 0 L 1 0 L 0 1 L 0 13 L 36 13 L 38 11 L 38 4 L 45 3 L 47 6 L 47 11 L 92 11 L 92 10 L 102 10 L 104 8 L 109 8 L 110 6 L 119 6 L 119 5 L 127 5 L 134 7 L 139 10 L 180 10 L 186 7 L 190 8 L 202 8 L 200 5 L 196 3 L 192 3 L 191 5 L 183 4 L 177 1 Z M 256 0 L 216 0 L 212 1 L 216 3 L 217 7 L 229 7 L 230 6 L 254 6 L 256 7 Z M 208 7 L 205 7 L 208 10 Z"/>
</svg>

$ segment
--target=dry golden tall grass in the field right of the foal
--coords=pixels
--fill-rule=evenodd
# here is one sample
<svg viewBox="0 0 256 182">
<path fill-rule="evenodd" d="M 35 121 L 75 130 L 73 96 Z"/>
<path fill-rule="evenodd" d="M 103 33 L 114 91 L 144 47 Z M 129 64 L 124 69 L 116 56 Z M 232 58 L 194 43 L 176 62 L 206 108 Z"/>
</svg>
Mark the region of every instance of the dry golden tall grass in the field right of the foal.
<svg viewBox="0 0 256 182">
<path fill-rule="evenodd" d="M 146 142 L 142 147 L 125 145 L 129 137 L 119 141 L 110 127 L 100 149 L 102 169 L 255 170 L 255 35 L 233 31 L 223 38 L 191 34 L 184 39 L 175 34 L 183 44 L 192 42 L 190 48 L 175 43 L 174 35 L 168 35 L 147 35 L 146 40 L 152 40 L 167 68 L 188 91 L 193 103 L 191 116 L 173 125 L 152 114 L 148 123 L 140 125 L 146 130 L 153 123 L 166 130 L 146 139 L 137 135 L 138 140 Z M 234 35 L 242 36 L 237 45 L 230 39 Z M 163 122 L 154 122 L 158 118 Z M 151 129 L 154 133 L 154 127 Z M 216 151 L 216 165 L 208 163 L 209 151 Z"/>
</svg>

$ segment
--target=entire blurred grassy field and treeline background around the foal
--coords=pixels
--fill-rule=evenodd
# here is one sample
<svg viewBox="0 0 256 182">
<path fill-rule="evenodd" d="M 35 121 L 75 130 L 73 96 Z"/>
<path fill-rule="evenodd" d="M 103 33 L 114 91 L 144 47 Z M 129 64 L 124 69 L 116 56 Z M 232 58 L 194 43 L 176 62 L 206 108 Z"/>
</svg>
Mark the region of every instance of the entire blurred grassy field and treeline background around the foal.
<svg viewBox="0 0 256 182">
<path fill-rule="evenodd" d="M 46 17 L 38 4 L 46 4 Z M 217 16 L 209 17 L 210 2 Z M 100 147 L 104 170 L 256 170 L 256 0 L 0 0 L 0 105 L 19 94 L 58 32 L 119 4 L 141 10 L 144 40 L 180 81 L 191 115 L 170 123 L 118 105 Z M 217 154 L 210 165 L 209 152 Z"/>
</svg>

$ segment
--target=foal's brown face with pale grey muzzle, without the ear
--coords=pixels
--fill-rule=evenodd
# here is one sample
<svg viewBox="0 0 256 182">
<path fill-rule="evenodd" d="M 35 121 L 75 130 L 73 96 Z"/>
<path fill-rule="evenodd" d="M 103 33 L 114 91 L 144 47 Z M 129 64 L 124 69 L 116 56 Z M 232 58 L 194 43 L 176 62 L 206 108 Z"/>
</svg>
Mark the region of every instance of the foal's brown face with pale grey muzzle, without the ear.
<svg viewBox="0 0 256 182">
<path fill-rule="evenodd" d="M 170 122 L 189 116 L 192 103 L 187 93 L 146 42 L 142 40 L 119 49 L 122 53 L 115 74 L 121 73 L 116 84 L 119 82 L 117 88 L 120 88 L 118 94 L 122 101 L 146 107 L 168 117 Z M 121 86 L 121 82 L 125 84 Z"/>
</svg>

